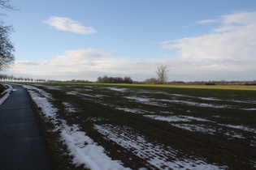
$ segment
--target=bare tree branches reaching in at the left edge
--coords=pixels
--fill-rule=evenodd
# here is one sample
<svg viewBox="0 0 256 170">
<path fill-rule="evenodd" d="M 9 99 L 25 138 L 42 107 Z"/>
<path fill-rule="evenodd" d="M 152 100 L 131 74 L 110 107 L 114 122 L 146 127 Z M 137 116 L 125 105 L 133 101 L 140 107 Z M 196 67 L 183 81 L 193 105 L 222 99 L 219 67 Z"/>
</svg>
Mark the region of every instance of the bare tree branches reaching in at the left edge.
<svg viewBox="0 0 256 170">
<path fill-rule="evenodd" d="M 8 0 L 0 0 L 0 8 L 14 9 L 8 2 Z M 13 28 L 0 21 L 0 70 L 6 69 L 15 61 L 15 49 L 9 37 L 11 32 Z"/>
</svg>

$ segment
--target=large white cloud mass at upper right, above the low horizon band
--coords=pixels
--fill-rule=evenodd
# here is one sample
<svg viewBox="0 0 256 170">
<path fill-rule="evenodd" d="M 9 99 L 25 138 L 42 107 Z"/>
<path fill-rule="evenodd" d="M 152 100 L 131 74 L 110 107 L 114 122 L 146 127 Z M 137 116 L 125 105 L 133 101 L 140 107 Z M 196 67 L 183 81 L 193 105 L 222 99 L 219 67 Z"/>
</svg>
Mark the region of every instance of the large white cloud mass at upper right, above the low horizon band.
<svg viewBox="0 0 256 170">
<path fill-rule="evenodd" d="M 245 62 L 251 64 L 256 62 L 255 18 L 255 12 L 223 15 L 219 19 L 222 23 L 221 27 L 213 29 L 209 34 L 167 40 L 161 42 L 161 45 L 163 49 L 178 49 L 177 58 L 181 60 L 205 63 L 206 69 L 215 65 L 215 70 L 228 70 L 228 68 L 230 71 L 235 70 L 232 66 L 236 66 L 236 70 L 249 70 L 251 66 L 245 68 Z M 204 20 L 199 23 L 211 21 L 215 20 Z M 226 61 L 225 65 L 218 63 L 220 61 Z M 234 61 L 243 64 L 236 65 Z M 227 65 L 230 67 L 227 68 Z"/>
</svg>

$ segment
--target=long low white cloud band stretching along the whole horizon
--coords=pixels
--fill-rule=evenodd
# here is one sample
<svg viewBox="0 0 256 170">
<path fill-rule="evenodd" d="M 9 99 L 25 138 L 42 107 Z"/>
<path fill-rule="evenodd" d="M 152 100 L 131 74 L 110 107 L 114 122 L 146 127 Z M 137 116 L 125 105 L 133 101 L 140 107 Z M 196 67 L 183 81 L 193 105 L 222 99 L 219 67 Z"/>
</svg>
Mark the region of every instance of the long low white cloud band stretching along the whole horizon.
<svg viewBox="0 0 256 170">
<path fill-rule="evenodd" d="M 104 53 L 102 53 L 102 51 Z M 117 54 L 115 55 L 109 55 Z M 34 65 L 32 65 L 34 64 Z M 204 74 L 236 74 L 248 69 L 255 70 L 256 62 L 234 60 L 191 61 L 180 57 L 132 58 L 119 57 L 119 53 L 100 49 L 67 50 L 48 61 L 17 61 L 16 73 L 28 74 L 35 79 L 89 79 L 99 76 L 131 76 L 143 81 L 156 77 L 157 66 L 167 64 L 169 80 L 200 80 Z M 15 73 L 13 73 L 15 74 Z M 16 74 L 15 74 L 16 75 Z M 209 78 L 210 79 L 210 78 Z M 209 80 L 207 79 L 207 80 Z M 223 79 L 223 78 L 222 78 Z"/>
</svg>

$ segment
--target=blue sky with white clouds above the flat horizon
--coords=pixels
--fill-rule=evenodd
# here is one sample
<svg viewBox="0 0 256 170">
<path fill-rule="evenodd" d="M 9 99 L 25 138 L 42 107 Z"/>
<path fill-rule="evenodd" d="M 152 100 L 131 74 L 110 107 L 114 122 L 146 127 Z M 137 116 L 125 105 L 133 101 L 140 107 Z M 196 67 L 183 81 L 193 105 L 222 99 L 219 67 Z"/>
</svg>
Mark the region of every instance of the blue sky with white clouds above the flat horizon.
<svg viewBox="0 0 256 170">
<path fill-rule="evenodd" d="M 255 80 L 255 0 L 10 0 L 15 64 L 33 79 Z"/>
</svg>

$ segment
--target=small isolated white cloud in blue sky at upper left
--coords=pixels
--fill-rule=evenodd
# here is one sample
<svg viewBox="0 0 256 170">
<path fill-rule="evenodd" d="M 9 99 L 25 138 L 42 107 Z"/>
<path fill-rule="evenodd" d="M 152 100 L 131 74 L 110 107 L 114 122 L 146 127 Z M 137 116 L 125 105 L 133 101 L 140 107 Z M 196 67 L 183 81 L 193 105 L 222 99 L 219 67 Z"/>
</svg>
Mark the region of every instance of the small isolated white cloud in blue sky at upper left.
<svg viewBox="0 0 256 170">
<path fill-rule="evenodd" d="M 61 31 L 75 32 L 79 34 L 97 33 L 96 29 L 92 27 L 85 27 L 78 21 L 64 17 L 51 16 L 50 19 L 43 20 L 42 22 L 47 23 L 50 26 L 54 27 L 55 29 Z"/>
</svg>

